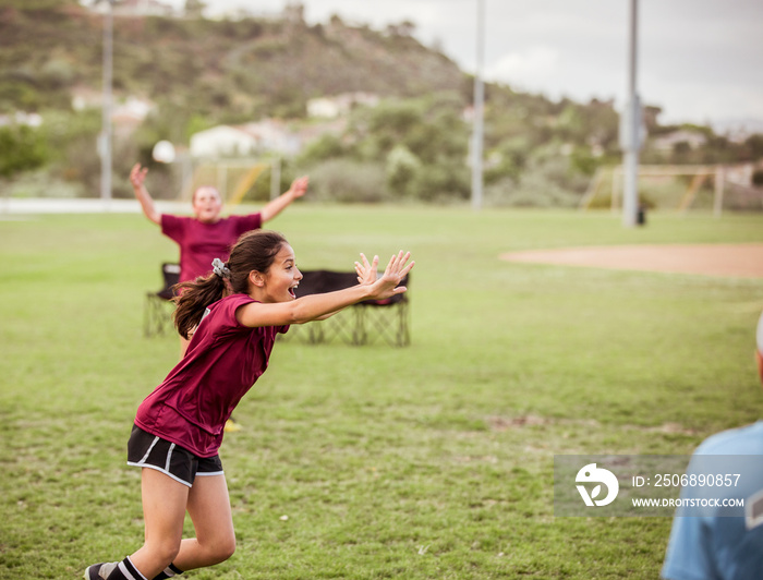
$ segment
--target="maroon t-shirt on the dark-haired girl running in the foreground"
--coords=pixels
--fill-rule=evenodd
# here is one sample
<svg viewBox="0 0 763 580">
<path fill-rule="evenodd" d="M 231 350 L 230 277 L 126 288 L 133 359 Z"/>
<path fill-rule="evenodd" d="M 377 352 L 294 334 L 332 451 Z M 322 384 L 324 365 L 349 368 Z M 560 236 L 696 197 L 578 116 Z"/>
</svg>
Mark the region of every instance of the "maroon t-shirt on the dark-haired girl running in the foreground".
<svg viewBox="0 0 763 580">
<path fill-rule="evenodd" d="M 209 306 L 185 357 L 138 407 L 138 427 L 198 457 L 217 454 L 226 421 L 267 368 L 276 335 L 289 329 L 241 325 L 235 311 L 251 302 L 231 294 Z"/>
</svg>

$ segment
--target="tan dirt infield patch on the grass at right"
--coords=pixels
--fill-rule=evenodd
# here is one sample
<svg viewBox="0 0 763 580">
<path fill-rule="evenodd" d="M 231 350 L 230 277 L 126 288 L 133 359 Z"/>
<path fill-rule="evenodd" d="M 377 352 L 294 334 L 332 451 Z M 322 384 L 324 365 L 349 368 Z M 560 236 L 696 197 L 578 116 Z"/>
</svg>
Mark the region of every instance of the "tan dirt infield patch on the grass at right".
<svg viewBox="0 0 763 580">
<path fill-rule="evenodd" d="M 532 250 L 501 259 L 558 266 L 763 278 L 763 244 L 619 245 Z"/>
</svg>

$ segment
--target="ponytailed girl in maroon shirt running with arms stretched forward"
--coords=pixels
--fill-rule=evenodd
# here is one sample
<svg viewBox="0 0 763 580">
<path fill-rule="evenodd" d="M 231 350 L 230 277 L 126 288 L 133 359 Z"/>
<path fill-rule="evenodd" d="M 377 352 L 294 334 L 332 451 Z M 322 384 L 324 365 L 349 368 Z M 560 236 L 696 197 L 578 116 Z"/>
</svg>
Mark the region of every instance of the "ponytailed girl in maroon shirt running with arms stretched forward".
<svg viewBox="0 0 763 580">
<path fill-rule="evenodd" d="M 183 283 L 175 325 L 196 328 L 185 357 L 141 403 L 128 463 L 142 468 L 145 543 L 122 561 L 94 564 L 86 580 L 153 580 L 213 566 L 235 549 L 228 486 L 218 449 L 233 409 L 267 368 L 278 333 L 327 318 L 364 300 L 404 292 L 410 253 L 355 262 L 359 285 L 295 299 L 302 279 L 294 251 L 279 233 L 245 233 L 227 263 Z M 196 537 L 182 539 L 187 510 Z"/>
</svg>

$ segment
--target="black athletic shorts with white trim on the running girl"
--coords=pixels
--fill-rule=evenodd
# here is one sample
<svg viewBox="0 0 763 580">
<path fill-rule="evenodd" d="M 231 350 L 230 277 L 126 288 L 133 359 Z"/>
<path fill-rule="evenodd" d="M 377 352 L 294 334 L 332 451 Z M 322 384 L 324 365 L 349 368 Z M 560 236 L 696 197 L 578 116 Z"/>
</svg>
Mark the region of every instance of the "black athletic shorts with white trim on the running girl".
<svg viewBox="0 0 763 580">
<path fill-rule="evenodd" d="M 146 433 L 133 425 L 128 443 L 128 466 L 161 471 L 173 480 L 193 486 L 196 475 L 222 475 L 220 456 L 196 457 L 167 439 Z"/>
</svg>

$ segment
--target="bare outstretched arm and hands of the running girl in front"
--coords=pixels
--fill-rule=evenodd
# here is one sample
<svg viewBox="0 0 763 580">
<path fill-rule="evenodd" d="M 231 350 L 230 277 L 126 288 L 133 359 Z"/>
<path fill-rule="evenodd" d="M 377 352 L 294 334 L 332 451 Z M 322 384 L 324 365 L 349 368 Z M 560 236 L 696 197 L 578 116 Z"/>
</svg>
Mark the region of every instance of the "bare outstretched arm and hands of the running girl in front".
<svg viewBox="0 0 763 580">
<path fill-rule="evenodd" d="M 411 253 L 408 252 L 391 257 L 384 275 L 375 279 L 372 283 L 360 283 L 344 290 L 326 292 L 324 294 L 310 294 L 291 302 L 278 302 L 263 304 L 252 302 L 241 306 L 235 312 L 237 319 L 244 326 L 281 326 L 287 324 L 303 324 L 316 321 L 327 314 L 334 314 L 347 306 L 356 304 L 364 300 L 384 300 L 400 294 L 408 290 L 400 286 L 400 281 L 411 271 L 415 262 L 410 262 Z M 361 266 L 359 278 L 366 282 L 371 280 L 372 274 L 368 271 L 373 264 L 365 261 Z M 377 258 L 374 259 L 376 264 Z"/>
</svg>

